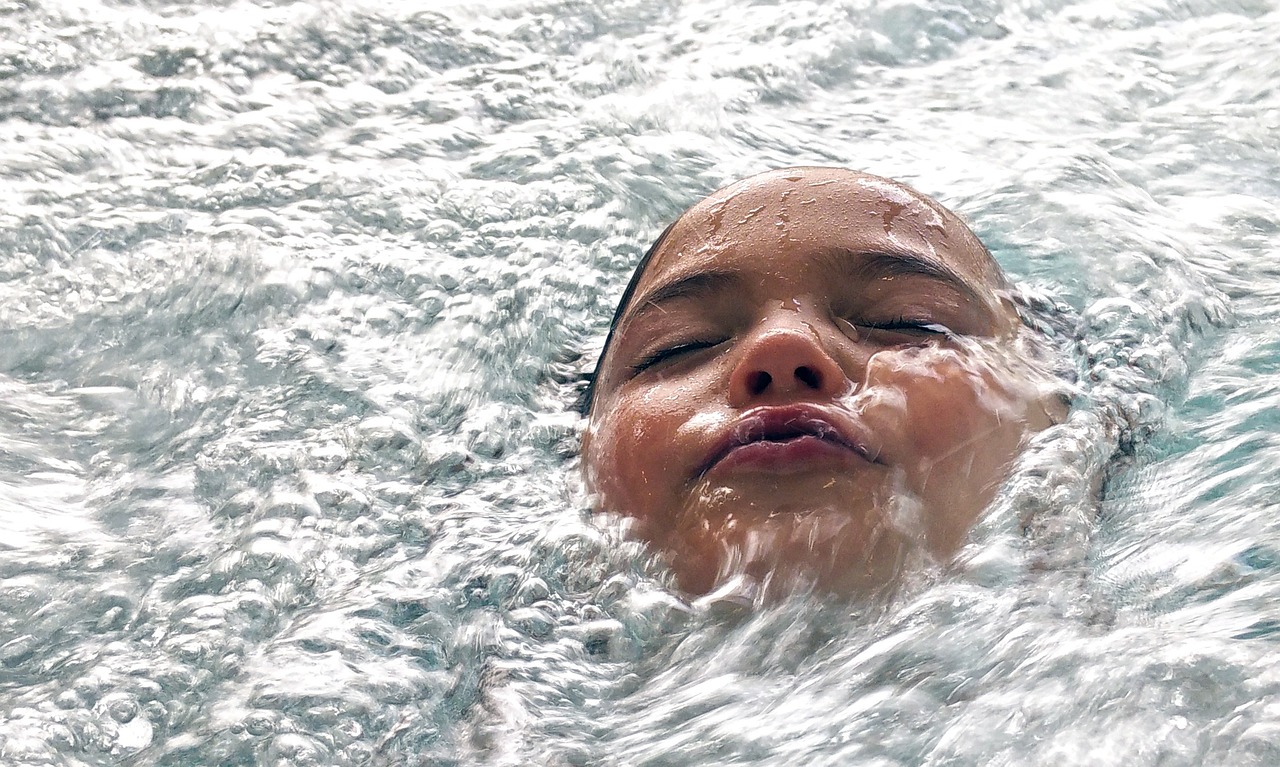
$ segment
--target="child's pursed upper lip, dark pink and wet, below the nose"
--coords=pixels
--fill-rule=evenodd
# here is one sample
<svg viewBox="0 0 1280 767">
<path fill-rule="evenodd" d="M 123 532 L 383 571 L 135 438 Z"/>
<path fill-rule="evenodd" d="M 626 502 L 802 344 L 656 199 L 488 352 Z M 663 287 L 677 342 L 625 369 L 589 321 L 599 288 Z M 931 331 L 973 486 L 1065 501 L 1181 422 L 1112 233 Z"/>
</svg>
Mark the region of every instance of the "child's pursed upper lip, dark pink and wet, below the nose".
<svg viewBox="0 0 1280 767">
<path fill-rule="evenodd" d="M 815 437 L 824 443 L 858 455 L 869 464 L 881 464 L 878 451 L 868 447 L 852 419 L 813 405 L 754 407 L 744 412 L 722 438 L 716 440 L 699 469 L 701 476 L 736 449 L 754 443 L 787 443 Z"/>
</svg>

